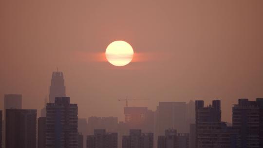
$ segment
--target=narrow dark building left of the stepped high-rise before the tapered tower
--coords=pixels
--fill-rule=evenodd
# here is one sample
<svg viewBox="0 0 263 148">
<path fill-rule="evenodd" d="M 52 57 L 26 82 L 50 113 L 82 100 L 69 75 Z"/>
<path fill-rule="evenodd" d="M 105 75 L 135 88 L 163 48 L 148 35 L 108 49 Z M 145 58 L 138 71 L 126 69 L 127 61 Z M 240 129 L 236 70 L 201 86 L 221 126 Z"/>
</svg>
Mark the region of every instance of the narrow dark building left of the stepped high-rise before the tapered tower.
<svg viewBox="0 0 263 148">
<path fill-rule="evenodd" d="M 46 117 L 38 117 L 38 148 L 46 148 Z"/>
</svg>

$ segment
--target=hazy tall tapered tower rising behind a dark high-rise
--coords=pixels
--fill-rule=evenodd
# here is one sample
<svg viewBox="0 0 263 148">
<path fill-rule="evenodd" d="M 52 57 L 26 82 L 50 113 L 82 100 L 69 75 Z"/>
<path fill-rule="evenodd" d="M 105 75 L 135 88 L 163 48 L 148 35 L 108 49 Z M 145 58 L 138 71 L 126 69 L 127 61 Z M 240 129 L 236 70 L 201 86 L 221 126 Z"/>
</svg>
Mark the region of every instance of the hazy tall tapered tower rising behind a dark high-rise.
<svg viewBox="0 0 263 148">
<path fill-rule="evenodd" d="M 53 72 L 49 87 L 49 103 L 54 103 L 56 97 L 66 96 L 66 86 L 62 72 Z"/>
</svg>

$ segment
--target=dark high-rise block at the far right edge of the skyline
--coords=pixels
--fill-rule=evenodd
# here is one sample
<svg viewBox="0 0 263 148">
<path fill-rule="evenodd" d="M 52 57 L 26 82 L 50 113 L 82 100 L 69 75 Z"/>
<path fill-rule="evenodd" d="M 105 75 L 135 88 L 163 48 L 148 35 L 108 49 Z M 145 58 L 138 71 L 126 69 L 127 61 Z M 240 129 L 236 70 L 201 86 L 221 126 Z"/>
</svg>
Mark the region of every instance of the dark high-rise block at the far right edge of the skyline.
<svg viewBox="0 0 263 148">
<path fill-rule="evenodd" d="M 239 129 L 240 148 L 263 148 L 263 99 L 239 99 L 232 111 L 233 128 Z"/>
</svg>

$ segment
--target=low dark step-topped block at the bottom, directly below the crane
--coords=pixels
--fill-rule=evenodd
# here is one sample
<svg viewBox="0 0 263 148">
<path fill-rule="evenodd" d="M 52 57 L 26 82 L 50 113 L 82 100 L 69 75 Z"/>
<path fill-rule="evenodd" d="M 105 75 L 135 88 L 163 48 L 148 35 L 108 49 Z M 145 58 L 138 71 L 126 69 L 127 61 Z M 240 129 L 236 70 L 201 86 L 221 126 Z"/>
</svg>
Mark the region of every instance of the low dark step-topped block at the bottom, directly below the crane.
<svg viewBox="0 0 263 148">
<path fill-rule="evenodd" d="M 122 136 L 122 148 L 153 148 L 153 133 L 130 129 L 129 136 Z"/>
</svg>

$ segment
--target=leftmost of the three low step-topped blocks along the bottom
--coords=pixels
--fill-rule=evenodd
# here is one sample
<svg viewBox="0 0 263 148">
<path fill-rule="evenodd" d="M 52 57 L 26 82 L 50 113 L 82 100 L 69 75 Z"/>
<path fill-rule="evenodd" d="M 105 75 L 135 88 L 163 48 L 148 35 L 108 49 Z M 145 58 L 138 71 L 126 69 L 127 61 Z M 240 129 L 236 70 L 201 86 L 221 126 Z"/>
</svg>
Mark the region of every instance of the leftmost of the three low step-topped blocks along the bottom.
<svg viewBox="0 0 263 148">
<path fill-rule="evenodd" d="M 118 133 L 94 129 L 94 135 L 87 136 L 86 148 L 118 148 Z"/>
</svg>

